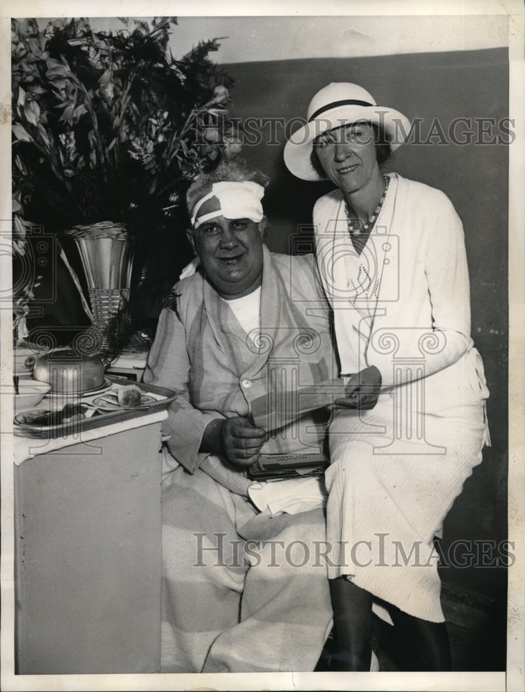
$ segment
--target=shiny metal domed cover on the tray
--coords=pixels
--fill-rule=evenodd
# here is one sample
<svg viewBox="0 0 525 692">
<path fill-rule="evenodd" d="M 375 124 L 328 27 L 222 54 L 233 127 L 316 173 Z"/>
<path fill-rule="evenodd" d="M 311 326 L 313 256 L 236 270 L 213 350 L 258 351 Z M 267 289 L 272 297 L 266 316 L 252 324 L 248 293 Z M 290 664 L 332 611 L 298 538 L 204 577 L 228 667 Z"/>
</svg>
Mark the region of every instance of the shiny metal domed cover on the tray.
<svg viewBox="0 0 525 692">
<path fill-rule="evenodd" d="M 53 394 L 80 394 L 104 385 L 104 363 L 73 349 L 57 349 L 36 359 L 33 377 L 48 382 Z"/>
</svg>

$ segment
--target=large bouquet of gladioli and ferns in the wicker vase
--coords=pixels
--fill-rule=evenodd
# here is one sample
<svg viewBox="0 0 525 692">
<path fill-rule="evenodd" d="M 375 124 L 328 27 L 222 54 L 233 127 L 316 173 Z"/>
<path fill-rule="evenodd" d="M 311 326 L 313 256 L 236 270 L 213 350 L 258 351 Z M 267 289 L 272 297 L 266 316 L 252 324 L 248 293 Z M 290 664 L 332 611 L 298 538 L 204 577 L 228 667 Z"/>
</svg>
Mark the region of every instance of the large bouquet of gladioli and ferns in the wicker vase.
<svg viewBox="0 0 525 692">
<path fill-rule="evenodd" d="M 125 229 L 133 274 L 120 326 L 140 327 L 191 257 L 187 186 L 241 143 L 232 80 L 208 57 L 219 39 L 177 59 L 175 17 L 119 21 L 12 20 L 12 181 L 21 218 L 55 233 L 69 257 L 66 231 Z"/>
</svg>

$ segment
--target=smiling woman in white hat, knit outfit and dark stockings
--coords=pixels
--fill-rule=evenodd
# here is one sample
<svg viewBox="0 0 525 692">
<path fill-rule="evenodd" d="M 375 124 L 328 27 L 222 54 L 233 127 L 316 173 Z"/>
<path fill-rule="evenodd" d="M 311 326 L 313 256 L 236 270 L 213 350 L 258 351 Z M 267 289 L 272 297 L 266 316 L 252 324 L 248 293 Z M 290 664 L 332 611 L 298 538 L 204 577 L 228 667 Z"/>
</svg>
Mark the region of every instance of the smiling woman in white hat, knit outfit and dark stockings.
<svg viewBox="0 0 525 692">
<path fill-rule="evenodd" d="M 381 171 L 409 131 L 401 113 L 340 82 L 315 94 L 307 120 L 285 163 L 337 188 L 313 223 L 347 383 L 326 471 L 340 668 L 370 670 L 374 609 L 414 669 L 450 670 L 433 542 L 490 444 L 463 228 L 443 192 Z"/>
</svg>

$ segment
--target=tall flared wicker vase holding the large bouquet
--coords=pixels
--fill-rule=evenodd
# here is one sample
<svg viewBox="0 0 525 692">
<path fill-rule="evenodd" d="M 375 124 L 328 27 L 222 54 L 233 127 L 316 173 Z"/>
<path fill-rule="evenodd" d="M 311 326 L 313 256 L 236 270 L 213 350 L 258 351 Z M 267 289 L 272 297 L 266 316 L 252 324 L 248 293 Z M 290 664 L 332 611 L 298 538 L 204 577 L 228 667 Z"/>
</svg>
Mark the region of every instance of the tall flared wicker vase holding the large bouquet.
<svg viewBox="0 0 525 692">
<path fill-rule="evenodd" d="M 89 290 L 98 351 L 109 346 L 107 327 L 129 299 L 133 251 L 122 224 L 102 221 L 66 231 L 75 240 Z"/>
</svg>

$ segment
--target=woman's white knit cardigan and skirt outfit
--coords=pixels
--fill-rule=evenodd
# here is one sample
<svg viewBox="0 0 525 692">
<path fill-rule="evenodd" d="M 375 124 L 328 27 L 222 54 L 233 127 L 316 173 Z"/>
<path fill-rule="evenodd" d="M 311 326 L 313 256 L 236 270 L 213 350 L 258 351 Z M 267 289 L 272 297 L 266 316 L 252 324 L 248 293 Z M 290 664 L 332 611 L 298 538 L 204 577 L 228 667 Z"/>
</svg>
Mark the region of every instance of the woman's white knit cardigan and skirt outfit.
<svg viewBox="0 0 525 692">
<path fill-rule="evenodd" d="M 432 541 L 490 444 L 461 221 L 442 192 L 396 174 L 360 256 L 340 191 L 313 220 L 341 372 L 376 365 L 383 383 L 374 409 L 331 421 L 329 578 L 443 621 Z"/>
</svg>

